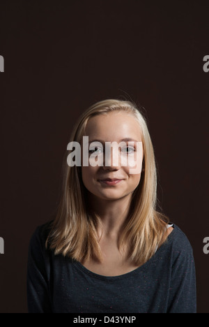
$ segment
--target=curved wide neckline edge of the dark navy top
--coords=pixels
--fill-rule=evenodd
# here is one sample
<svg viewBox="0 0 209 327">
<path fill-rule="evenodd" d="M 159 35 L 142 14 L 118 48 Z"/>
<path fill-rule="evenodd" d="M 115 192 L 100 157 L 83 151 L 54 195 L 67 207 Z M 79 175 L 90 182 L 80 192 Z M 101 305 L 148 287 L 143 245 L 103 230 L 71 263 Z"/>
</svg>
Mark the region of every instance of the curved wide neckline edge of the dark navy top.
<svg viewBox="0 0 209 327">
<path fill-rule="evenodd" d="M 128 277 L 131 277 L 132 275 L 135 275 L 136 273 L 138 273 L 139 270 L 142 270 L 146 266 L 148 266 L 148 264 L 150 264 L 156 258 L 156 256 L 158 256 L 162 252 L 164 247 L 168 245 L 168 243 L 170 242 L 170 240 L 173 238 L 173 236 L 176 234 L 176 231 L 177 231 L 176 225 L 173 224 L 172 226 L 173 226 L 173 231 L 171 231 L 171 233 L 167 237 L 167 240 L 161 245 L 161 247 L 159 249 L 157 249 L 155 254 L 153 254 L 153 256 L 151 256 L 151 258 L 148 261 L 146 261 L 146 263 L 144 263 L 143 265 L 141 265 L 138 268 L 135 268 L 134 270 L 131 270 L 130 272 L 125 273 L 123 275 L 116 275 L 116 276 L 99 275 L 97 273 L 93 273 L 93 271 L 91 271 L 91 270 L 88 270 L 79 261 L 74 261 L 74 263 L 80 270 L 82 270 L 84 273 L 86 273 L 86 275 L 91 276 L 93 278 L 106 280 L 106 281 L 109 281 L 109 282 L 110 281 L 115 281 L 115 280 L 118 280 L 118 279 L 125 279 L 125 278 L 128 278 Z"/>
</svg>

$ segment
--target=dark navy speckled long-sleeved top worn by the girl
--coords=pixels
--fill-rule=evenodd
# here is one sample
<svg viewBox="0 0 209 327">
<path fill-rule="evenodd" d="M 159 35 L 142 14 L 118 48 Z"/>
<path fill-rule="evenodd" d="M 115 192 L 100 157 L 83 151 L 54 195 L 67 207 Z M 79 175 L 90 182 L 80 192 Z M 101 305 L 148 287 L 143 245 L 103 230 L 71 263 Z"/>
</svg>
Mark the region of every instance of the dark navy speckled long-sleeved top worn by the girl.
<svg viewBox="0 0 209 327">
<path fill-rule="evenodd" d="M 49 224 L 39 226 L 29 245 L 29 312 L 196 313 L 192 247 L 180 228 L 173 228 L 143 266 L 107 277 L 45 249 Z"/>
</svg>

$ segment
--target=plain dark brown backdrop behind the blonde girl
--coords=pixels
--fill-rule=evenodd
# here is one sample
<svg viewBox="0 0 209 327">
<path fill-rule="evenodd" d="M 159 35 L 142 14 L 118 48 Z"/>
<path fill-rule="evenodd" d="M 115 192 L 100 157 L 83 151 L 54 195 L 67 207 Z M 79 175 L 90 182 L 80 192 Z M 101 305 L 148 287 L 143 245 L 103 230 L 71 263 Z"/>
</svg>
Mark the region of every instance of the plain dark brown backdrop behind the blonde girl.
<svg viewBox="0 0 209 327">
<path fill-rule="evenodd" d="M 145 107 L 158 198 L 194 249 L 198 311 L 209 313 L 208 1 L 1 1 L 0 312 L 26 312 L 36 226 L 56 210 L 75 119 L 128 94 Z"/>
</svg>

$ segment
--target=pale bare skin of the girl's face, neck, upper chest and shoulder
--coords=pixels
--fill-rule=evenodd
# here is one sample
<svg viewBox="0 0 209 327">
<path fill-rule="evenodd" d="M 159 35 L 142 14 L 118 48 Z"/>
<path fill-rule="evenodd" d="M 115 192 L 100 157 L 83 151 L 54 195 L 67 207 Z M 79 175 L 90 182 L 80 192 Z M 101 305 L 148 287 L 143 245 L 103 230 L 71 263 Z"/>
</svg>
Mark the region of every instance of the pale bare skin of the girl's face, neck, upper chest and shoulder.
<svg viewBox="0 0 209 327">
<path fill-rule="evenodd" d="M 133 140 L 134 146 L 128 148 L 127 142 L 127 148 L 121 150 L 124 151 L 123 156 L 136 155 L 135 145 L 142 140 L 139 123 L 125 112 L 110 112 L 92 117 L 86 126 L 86 136 L 89 143 L 91 140 L 100 140 L 102 143 Z M 102 262 L 91 259 L 82 264 L 93 273 L 104 276 L 123 275 L 139 267 L 127 259 L 125 252 L 119 252 L 118 236 L 130 210 L 132 193 L 139 185 L 141 173 L 130 174 L 130 166 L 121 165 L 121 156 L 118 156 L 118 164 L 114 163 L 113 156 L 111 152 L 110 166 L 82 166 L 82 180 L 88 190 L 88 203 L 102 220 L 102 227 L 98 226 L 98 235 L 103 256 Z M 118 184 L 101 182 L 106 178 L 121 181 Z M 167 235 L 172 229 L 168 228 Z"/>
</svg>

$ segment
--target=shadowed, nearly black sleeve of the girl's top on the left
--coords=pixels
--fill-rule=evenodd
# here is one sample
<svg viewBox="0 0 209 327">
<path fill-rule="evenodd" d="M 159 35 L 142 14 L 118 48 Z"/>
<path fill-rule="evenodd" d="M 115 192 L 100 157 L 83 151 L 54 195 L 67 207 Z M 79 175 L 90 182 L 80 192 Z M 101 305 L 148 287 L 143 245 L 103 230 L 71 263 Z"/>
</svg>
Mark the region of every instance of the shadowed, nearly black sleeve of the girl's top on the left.
<svg viewBox="0 0 209 327">
<path fill-rule="evenodd" d="M 29 313 L 52 312 L 49 278 L 46 271 L 45 245 L 38 228 L 31 238 L 27 265 L 27 303 Z"/>
</svg>

